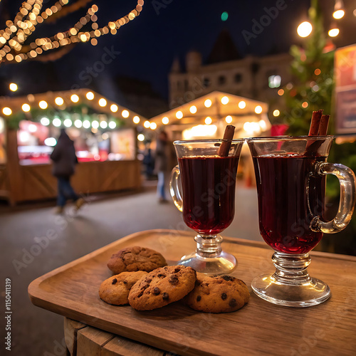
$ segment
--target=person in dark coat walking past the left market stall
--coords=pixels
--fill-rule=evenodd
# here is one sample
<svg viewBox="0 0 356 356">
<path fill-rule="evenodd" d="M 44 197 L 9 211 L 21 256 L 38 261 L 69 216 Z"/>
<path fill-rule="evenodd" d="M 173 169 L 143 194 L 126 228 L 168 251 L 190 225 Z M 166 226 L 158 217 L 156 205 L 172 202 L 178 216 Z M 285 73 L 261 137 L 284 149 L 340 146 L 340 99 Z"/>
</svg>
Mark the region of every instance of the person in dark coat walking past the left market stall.
<svg viewBox="0 0 356 356">
<path fill-rule="evenodd" d="M 75 172 L 75 165 L 78 164 L 78 159 L 75 155 L 74 143 L 70 140 L 64 129 L 61 129 L 61 135 L 58 137 L 57 145 L 51 154 L 51 159 L 53 161 L 52 174 L 58 179 L 58 214 L 63 213 L 68 199 L 73 199 L 76 209 L 80 209 L 80 206 L 84 204 L 84 200 L 74 192 L 74 189 L 70 185 L 70 177 Z"/>
</svg>

